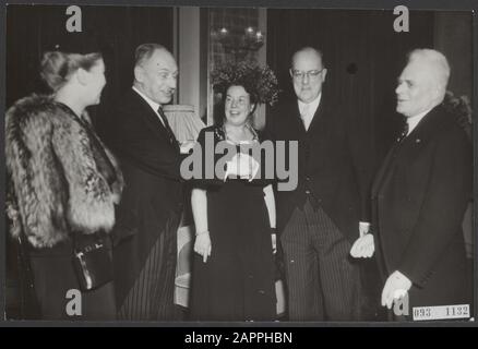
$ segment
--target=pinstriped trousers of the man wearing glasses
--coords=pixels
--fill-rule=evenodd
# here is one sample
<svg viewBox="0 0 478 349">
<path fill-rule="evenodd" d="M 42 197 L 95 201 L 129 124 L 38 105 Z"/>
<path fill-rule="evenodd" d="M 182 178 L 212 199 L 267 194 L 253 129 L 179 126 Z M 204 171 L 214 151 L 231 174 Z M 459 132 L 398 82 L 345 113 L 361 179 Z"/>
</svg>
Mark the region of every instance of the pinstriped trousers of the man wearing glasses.
<svg viewBox="0 0 478 349">
<path fill-rule="evenodd" d="M 350 242 L 321 206 L 308 200 L 296 208 L 280 243 L 290 321 L 359 320 L 360 272 Z"/>
</svg>

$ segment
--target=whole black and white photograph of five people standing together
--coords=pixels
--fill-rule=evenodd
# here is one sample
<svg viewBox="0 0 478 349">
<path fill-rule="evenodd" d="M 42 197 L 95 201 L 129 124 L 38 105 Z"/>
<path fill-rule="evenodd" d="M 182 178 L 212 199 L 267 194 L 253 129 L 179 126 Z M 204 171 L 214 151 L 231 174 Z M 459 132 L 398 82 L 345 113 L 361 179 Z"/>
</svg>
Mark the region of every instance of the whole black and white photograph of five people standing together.
<svg viewBox="0 0 478 349">
<path fill-rule="evenodd" d="M 5 8 L 7 321 L 474 321 L 473 11 Z"/>
</svg>

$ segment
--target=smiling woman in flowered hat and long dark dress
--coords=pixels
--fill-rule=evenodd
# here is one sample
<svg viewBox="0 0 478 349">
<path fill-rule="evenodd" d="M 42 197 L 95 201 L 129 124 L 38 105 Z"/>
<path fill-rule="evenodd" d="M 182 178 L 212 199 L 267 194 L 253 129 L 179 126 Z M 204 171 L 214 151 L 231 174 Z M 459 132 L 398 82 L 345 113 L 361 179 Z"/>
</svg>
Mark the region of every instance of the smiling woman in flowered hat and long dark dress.
<svg viewBox="0 0 478 349">
<path fill-rule="evenodd" d="M 271 77 L 273 86 L 261 91 Z M 259 146 L 262 134 L 252 127 L 260 103 L 276 98 L 276 80 L 268 69 L 231 67 L 213 74 L 222 92 L 224 117 L 201 131 L 198 142 L 214 179 L 193 182 L 192 212 L 196 229 L 192 270 L 191 317 L 202 321 L 272 321 L 276 318 L 274 237 L 275 205 L 264 157 L 243 152 Z M 225 171 L 222 155 L 206 154 L 226 142 L 234 152 Z M 260 170 L 261 169 L 261 170 Z M 216 171 L 215 171 L 216 170 Z M 259 176 L 258 173 L 261 173 Z"/>
</svg>

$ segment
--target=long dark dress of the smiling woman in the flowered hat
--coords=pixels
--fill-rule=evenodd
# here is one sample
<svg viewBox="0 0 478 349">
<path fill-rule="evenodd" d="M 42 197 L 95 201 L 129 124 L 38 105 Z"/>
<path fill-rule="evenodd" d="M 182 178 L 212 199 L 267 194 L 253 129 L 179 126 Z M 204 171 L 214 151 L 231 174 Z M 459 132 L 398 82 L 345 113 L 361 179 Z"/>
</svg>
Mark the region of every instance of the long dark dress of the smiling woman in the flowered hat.
<svg viewBox="0 0 478 349">
<path fill-rule="evenodd" d="M 201 131 L 198 141 L 203 159 L 205 132 L 214 132 L 215 144 L 224 140 L 217 127 Z M 220 156 L 216 155 L 215 161 Z M 274 255 L 263 192 L 267 184 L 241 179 L 194 182 L 193 186 L 207 191 L 212 252 L 206 263 L 194 253 L 192 320 L 275 320 Z"/>
</svg>

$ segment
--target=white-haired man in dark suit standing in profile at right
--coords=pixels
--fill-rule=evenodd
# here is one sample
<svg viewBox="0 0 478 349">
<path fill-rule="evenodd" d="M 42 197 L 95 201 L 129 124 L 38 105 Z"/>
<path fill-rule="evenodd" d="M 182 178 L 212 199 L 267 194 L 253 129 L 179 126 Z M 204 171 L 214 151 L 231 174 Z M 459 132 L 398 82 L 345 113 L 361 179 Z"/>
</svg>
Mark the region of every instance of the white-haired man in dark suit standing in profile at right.
<svg viewBox="0 0 478 349">
<path fill-rule="evenodd" d="M 471 145 L 442 105 L 449 76 L 442 53 L 409 55 L 396 88 L 406 127 L 372 188 L 382 305 L 408 297 L 409 316 L 414 306 L 470 300 L 462 220 L 471 192 Z"/>
</svg>

